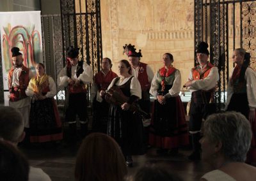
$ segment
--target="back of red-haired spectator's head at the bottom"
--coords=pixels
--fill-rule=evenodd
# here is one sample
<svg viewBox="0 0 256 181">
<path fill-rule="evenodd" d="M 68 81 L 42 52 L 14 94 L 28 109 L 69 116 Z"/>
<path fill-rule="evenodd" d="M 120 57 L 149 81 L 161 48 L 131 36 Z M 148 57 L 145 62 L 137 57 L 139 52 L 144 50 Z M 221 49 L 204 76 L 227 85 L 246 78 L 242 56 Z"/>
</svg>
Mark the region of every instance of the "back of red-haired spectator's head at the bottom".
<svg viewBox="0 0 256 181">
<path fill-rule="evenodd" d="M 113 138 L 103 133 L 84 138 L 76 157 L 77 181 L 121 181 L 126 174 L 124 156 Z"/>
</svg>

